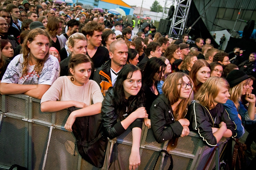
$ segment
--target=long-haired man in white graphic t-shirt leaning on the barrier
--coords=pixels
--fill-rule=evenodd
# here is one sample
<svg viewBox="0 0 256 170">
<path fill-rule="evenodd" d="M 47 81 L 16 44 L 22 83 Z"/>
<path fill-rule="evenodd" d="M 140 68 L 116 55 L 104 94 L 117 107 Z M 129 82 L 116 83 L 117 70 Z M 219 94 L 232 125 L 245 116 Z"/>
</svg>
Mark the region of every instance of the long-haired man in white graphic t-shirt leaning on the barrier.
<svg viewBox="0 0 256 170">
<path fill-rule="evenodd" d="M 26 94 L 41 99 L 60 76 L 60 64 L 49 55 L 50 36 L 40 28 L 24 40 L 22 54 L 13 58 L 0 83 L 1 94 Z"/>
</svg>

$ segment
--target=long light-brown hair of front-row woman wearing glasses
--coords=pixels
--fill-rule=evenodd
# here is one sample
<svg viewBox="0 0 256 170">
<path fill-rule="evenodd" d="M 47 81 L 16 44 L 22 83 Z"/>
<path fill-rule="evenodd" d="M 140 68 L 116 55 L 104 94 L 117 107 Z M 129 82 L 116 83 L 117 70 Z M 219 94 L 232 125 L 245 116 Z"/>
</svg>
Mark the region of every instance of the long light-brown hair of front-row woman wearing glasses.
<svg viewBox="0 0 256 170">
<path fill-rule="evenodd" d="M 187 76 L 187 78 L 189 79 L 190 83 L 193 84 L 192 79 L 186 75 L 183 72 L 175 72 L 170 74 L 162 87 L 162 90 L 165 94 L 165 97 L 168 99 L 168 102 L 170 105 L 173 105 L 174 103 L 176 103 L 179 98 L 180 98 L 180 89 L 178 88 L 178 83 L 181 79 L 181 81 L 183 81 L 183 77 Z M 191 89 L 191 92 L 193 91 L 193 88 Z M 191 92 L 189 94 L 189 97 L 191 95 Z M 177 110 L 174 112 L 173 111 L 173 117 L 175 119 L 175 121 L 178 121 L 179 119 L 183 119 L 185 117 L 185 115 L 187 114 L 187 108 L 188 108 L 188 99 L 183 99 L 180 101 L 179 105 L 177 106 Z M 178 137 L 174 137 L 172 139 L 169 140 L 168 145 L 166 150 L 170 151 L 173 148 L 175 148 L 177 146 L 178 143 Z"/>
</svg>

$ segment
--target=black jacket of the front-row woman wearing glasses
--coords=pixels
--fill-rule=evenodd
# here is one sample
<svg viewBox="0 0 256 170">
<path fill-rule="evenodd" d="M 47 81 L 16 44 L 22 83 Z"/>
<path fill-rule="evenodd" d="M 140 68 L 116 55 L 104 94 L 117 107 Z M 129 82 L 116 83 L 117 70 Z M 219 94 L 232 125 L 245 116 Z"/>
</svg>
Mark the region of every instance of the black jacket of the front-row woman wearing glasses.
<svg viewBox="0 0 256 170">
<path fill-rule="evenodd" d="M 168 99 L 164 93 L 160 94 L 150 108 L 151 128 L 158 143 L 180 137 L 182 133 L 183 127 L 179 121 L 175 121 L 172 113 Z"/>
</svg>

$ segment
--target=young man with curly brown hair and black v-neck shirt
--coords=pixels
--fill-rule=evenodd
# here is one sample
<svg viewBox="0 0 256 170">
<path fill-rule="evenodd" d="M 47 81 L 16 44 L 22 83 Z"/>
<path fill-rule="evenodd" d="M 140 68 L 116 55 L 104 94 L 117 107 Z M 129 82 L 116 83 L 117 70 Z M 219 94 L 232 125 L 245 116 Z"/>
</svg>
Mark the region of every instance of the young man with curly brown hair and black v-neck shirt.
<svg viewBox="0 0 256 170">
<path fill-rule="evenodd" d="M 94 70 L 109 60 L 108 49 L 100 46 L 103 29 L 104 27 L 95 21 L 87 23 L 82 29 L 82 33 L 88 40 L 87 55 L 91 57 L 94 65 L 90 79 L 93 77 Z"/>
</svg>

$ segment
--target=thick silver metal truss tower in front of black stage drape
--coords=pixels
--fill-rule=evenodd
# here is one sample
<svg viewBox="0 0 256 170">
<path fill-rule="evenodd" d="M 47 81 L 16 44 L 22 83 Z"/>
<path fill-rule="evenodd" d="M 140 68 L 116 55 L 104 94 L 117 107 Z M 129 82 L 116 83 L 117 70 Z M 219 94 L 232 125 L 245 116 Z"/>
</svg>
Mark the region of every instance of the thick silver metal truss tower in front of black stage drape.
<svg viewBox="0 0 256 170">
<path fill-rule="evenodd" d="M 166 0 L 167 1 L 167 0 Z M 172 17 L 172 24 L 169 30 L 170 35 L 182 35 L 187 23 L 188 12 L 192 0 L 175 0 L 175 10 Z"/>
</svg>

